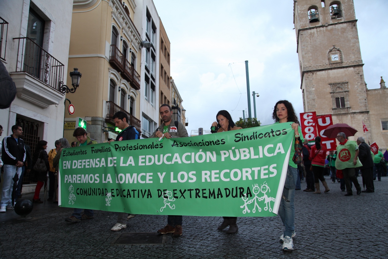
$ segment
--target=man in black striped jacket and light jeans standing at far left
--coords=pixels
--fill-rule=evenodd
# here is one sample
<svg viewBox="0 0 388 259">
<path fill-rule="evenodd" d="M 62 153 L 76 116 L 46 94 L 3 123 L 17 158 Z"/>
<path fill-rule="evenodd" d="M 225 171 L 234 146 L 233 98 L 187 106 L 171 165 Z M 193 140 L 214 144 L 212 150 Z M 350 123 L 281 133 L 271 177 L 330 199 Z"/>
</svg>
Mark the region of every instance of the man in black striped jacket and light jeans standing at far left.
<svg viewBox="0 0 388 259">
<path fill-rule="evenodd" d="M 2 198 L 0 202 L 0 212 L 5 212 L 5 209 L 13 209 L 12 205 L 12 189 L 14 180 L 17 174 L 19 179 L 22 173 L 23 161 L 26 160 L 26 149 L 24 149 L 24 142 L 21 139 L 23 129 L 19 125 L 12 126 L 12 135 L 3 138 L 2 142 L 2 160 L 4 168 L 4 184 L 2 191 Z"/>
</svg>

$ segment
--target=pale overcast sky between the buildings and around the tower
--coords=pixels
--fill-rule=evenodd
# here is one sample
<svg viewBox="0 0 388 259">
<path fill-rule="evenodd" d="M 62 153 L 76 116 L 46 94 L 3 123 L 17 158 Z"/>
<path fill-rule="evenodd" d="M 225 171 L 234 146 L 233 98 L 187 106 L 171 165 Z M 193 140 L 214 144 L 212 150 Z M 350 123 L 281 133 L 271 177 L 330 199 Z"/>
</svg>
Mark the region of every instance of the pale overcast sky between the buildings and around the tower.
<svg viewBox="0 0 388 259">
<path fill-rule="evenodd" d="M 293 1 L 154 0 L 171 42 L 171 77 L 183 98 L 187 131 L 210 129 L 218 110 L 248 114 L 245 60 L 257 118 L 272 124 L 278 100 L 303 112 Z M 368 89 L 388 80 L 388 1 L 354 0 Z M 247 115 L 246 115 L 247 117 Z"/>
</svg>

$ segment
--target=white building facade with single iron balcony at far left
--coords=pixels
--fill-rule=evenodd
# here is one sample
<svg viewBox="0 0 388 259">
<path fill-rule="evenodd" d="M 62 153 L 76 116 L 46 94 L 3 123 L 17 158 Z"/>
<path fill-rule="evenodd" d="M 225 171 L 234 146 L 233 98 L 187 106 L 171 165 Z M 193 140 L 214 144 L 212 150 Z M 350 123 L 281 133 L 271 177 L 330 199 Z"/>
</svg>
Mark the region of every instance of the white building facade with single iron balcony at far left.
<svg viewBox="0 0 388 259">
<path fill-rule="evenodd" d="M 17 88 L 10 108 L 0 110 L 3 136 L 22 126 L 23 139 L 35 150 L 39 140 L 48 149 L 63 135 L 62 84 L 71 84 L 68 56 L 73 0 L 1 0 L 0 62 Z"/>
</svg>

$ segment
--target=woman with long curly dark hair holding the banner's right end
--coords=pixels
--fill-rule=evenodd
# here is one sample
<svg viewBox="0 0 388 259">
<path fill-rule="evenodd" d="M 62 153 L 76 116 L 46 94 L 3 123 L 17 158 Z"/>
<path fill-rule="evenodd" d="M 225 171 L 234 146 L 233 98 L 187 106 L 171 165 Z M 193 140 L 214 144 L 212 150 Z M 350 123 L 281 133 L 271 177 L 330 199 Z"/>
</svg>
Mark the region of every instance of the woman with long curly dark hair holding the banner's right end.
<svg viewBox="0 0 388 259">
<path fill-rule="evenodd" d="M 282 219 L 285 230 L 281 235 L 280 240 L 283 241 L 282 250 L 294 250 L 292 238 L 295 234 L 295 209 L 294 209 L 294 194 L 296 187 L 296 177 L 298 177 L 298 166 L 294 163 L 293 156 L 295 154 L 295 140 L 299 143 L 303 142 L 303 136 L 299 127 L 299 120 L 295 114 L 294 107 L 289 101 L 281 100 L 275 104 L 272 119 L 275 123 L 287 123 L 294 130 L 294 138 L 291 145 L 291 153 L 288 162 L 288 170 L 286 181 L 284 182 L 282 200 L 279 206 L 279 216 Z"/>
</svg>

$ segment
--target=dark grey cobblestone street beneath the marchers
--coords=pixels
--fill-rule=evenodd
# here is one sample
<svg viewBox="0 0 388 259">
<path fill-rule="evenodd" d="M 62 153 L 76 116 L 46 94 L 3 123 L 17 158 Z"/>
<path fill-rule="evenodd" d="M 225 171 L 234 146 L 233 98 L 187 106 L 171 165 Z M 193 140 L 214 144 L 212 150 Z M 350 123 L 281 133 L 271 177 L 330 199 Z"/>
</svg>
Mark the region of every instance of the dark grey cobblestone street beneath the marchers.
<svg viewBox="0 0 388 259">
<path fill-rule="evenodd" d="M 387 258 L 388 177 L 374 181 L 375 193 L 345 197 L 326 177 L 330 192 L 295 195 L 295 250 L 283 252 L 279 216 L 241 217 L 239 231 L 218 231 L 221 217 L 184 216 L 183 235 L 158 245 L 112 245 L 122 233 L 156 232 L 166 216 L 137 215 L 127 228 L 110 231 L 117 213 L 95 211 L 94 219 L 69 224 L 72 209 L 37 204 L 29 221 L 14 211 L 0 214 L 0 257 L 11 258 Z M 361 177 L 358 177 L 362 183 Z M 330 182 L 329 182 L 330 181 Z M 42 194 L 41 194 L 42 195 Z M 30 198 L 25 195 L 23 198 Z M 31 196 L 32 197 L 32 196 Z M 43 195 L 41 196 L 43 197 Z"/>
</svg>

